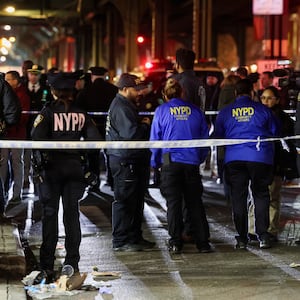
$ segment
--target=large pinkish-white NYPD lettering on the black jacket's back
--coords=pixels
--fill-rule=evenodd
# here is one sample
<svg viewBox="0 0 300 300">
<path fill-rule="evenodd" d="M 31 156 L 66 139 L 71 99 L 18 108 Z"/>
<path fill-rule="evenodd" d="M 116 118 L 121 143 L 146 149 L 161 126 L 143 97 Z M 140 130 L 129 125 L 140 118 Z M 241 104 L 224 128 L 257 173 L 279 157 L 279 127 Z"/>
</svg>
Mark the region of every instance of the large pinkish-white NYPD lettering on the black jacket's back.
<svg viewBox="0 0 300 300">
<path fill-rule="evenodd" d="M 85 115 L 77 112 L 59 112 L 53 114 L 54 131 L 81 131 Z"/>
</svg>

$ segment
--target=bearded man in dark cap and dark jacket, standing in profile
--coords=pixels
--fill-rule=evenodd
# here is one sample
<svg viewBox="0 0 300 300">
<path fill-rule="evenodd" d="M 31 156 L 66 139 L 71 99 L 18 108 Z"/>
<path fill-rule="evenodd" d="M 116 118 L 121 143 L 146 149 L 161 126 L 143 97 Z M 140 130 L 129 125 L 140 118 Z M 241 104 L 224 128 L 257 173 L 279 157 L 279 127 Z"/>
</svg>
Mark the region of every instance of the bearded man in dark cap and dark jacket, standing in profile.
<svg viewBox="0 0 300 300">
<path fill-rule="evenodd" d="M 107 141 L 148 140 L 150 119 L 140 121 L 136 100 L 145 86 L 135 75 L 124 73 L 117 84 L 119 92 L 112 101 L 106 122 Z M 148 186 L 149 149 L 108 149 L 114 179 L 112 235 L 114 251 L 142 251 L 154 243 L 142 236 L 144 195 Z"/>
</svg>

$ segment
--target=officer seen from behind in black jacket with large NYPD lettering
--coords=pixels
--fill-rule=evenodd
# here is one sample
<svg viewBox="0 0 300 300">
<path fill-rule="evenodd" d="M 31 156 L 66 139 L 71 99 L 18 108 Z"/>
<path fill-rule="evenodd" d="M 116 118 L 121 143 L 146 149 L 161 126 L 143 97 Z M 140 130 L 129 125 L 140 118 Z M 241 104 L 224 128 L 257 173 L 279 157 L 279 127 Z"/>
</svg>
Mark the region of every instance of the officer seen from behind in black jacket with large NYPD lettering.
<svg viewBox="0 0 300 300">
<path fill-rule="evenodd" d="M 87 113 L 73 104 L 76 78 L 70 73 L 48 74 L 48 82 L 55 101 L 42 109 L 36 117 L 31 135 L 39 141 L 99 140 L 100 134 Z M 78 200 L 85 189 L 82 152 L 77 149 L 41 150 L 43 171 L 39 174 L 39 196 L 42 204 L 42 245 L 40 267 L 48 281 L 54 274 L 55 249 L 58 241 L 58 210 L 60 197 L 63 205 L 66 257 L 64 265 L 78 271 L 81 230 Z"/>
</svg>

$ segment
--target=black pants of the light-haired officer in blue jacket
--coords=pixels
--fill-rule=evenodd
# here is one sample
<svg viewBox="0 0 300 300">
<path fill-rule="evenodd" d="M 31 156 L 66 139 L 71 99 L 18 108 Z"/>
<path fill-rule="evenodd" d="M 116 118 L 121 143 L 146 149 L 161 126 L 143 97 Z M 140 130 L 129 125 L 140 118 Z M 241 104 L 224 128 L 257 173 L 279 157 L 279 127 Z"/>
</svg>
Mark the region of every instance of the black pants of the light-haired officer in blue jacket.
<svg viewBox="0 0 300 300">
<path fill-rule="evenodd" d="M 161 170 L 161 193 L 167 200 L 170 245 L 182 246 L 182 204 L 185 202 L 196 245 L 208 242 L 209 226 L 202 202 L 203 185 L 199 166 L 172 162 Z"/>
</svg>

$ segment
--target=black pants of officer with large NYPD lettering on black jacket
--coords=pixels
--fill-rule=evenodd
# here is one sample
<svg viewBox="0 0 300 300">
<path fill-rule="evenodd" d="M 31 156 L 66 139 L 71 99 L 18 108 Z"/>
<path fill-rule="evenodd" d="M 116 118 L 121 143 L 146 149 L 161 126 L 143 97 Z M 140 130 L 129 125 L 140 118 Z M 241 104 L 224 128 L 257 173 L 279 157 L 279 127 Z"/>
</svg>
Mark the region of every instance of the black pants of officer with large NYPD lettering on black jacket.
<svg viewBox="0 0 300 300">
<path fill-rule="evenodd" d="M 39 185 L 42 204 L 42 235 L 40 264 L 44 270 L 53 270 L 58 241 L 58 210 L 62 199 L 65 227 L 66 257 L 64 264 L 78 269 L 81 229 L 78 200 L 82 197 L 85 182 L 79 160 L 55 160 L 44 171 L 44 181 Z"/>
</svg>

